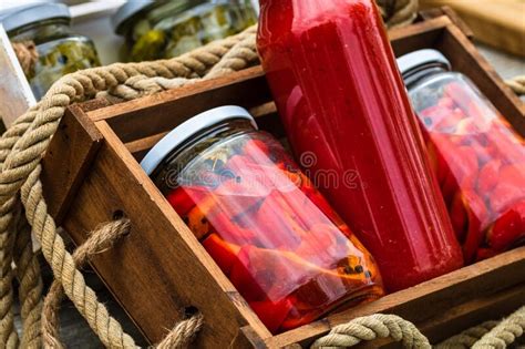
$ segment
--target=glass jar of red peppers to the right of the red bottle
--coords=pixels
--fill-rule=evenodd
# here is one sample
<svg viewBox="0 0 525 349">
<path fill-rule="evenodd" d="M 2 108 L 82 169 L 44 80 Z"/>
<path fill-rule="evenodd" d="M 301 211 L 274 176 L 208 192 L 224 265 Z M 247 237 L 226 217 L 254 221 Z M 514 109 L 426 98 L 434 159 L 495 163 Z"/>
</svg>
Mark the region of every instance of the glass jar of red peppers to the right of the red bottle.
<svg viewBox="0 0 525 349">
<path fill-rule="evenodd" d="M 525 143 L 435 50 L 398 60 L 465 261 L 525 243 Z"/>
</svg>

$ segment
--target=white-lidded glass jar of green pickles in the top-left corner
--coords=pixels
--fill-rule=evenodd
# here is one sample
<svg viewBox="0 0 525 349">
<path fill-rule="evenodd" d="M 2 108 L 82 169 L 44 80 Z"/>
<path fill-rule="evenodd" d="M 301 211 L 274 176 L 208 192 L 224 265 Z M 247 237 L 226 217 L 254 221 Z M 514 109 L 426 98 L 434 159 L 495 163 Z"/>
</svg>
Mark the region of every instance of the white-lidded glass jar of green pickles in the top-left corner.
<svg viewBox="0 0 525 349">
<path fill-rule="evenodd" d="M 93 42 L 71 31 L 71 14 L 61 3 L 35 3 L 0 13 L 11 42 L 34 44 L 37 57 L 24 69 L 37 100 L 69 73 L 99 66 Z"/>
</svg>

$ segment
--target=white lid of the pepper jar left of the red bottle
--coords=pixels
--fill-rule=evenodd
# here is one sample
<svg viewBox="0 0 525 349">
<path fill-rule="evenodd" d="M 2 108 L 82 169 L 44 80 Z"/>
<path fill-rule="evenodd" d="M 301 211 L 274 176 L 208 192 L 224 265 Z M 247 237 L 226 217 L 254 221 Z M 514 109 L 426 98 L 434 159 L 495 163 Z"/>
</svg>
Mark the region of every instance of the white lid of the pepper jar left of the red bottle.
<svg viewBox="0 0 525 349">
<path fill-rule="evenodd" d="M 258 130 L 254 116 L 246 109 L 236 105 L 215 107 L 193 116 L 164 136 L 143 158 L 141 162 L 142 168 L 144 168 L 147 175 L 151 175 L 164 157 L 169 155 L 178 145 L 192 138 L 204 129 L 233 119 L 248 120 Z"/>
</svg>

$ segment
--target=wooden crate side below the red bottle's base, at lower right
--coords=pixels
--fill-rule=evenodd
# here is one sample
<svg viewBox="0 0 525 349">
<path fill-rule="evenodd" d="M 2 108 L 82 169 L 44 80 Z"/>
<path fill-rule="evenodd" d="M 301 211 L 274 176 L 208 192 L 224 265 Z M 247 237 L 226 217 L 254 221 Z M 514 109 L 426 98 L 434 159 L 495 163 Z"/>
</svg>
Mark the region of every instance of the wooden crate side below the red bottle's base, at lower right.
<svg viewBox="0 0 525 349">
<path fill-rule="evenodd" d="M 523 270 L 525 270 L 525 247 L 388 295 L 373 302 L 333 314 L 326 319 L 269 338 L 266 342 L 271 348 L 296 342 L 308 345 L 337 325 L 375 312 L 395 314 L 420 325 L 441 316 L 446 309 L 472 299 L 491 297 L 514 287 L 525 288 Z M 521 305 L 523 301 L 512 306 L 517 308 Z"/>
</svg>

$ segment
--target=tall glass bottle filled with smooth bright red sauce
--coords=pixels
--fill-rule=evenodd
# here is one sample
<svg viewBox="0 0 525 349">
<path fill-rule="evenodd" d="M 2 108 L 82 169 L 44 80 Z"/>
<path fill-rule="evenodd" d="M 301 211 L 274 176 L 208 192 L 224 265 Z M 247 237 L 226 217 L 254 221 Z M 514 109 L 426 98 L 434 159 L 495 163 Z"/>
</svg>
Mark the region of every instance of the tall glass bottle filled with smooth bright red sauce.
<svg viewBox="0 0 525 349">
<path fill-rule="evenodd" d="M 372 1 L 264 0 L 258 49 L 296 155 L 372 253 L 388 290 L 461 267 Z"/>
</svg>

